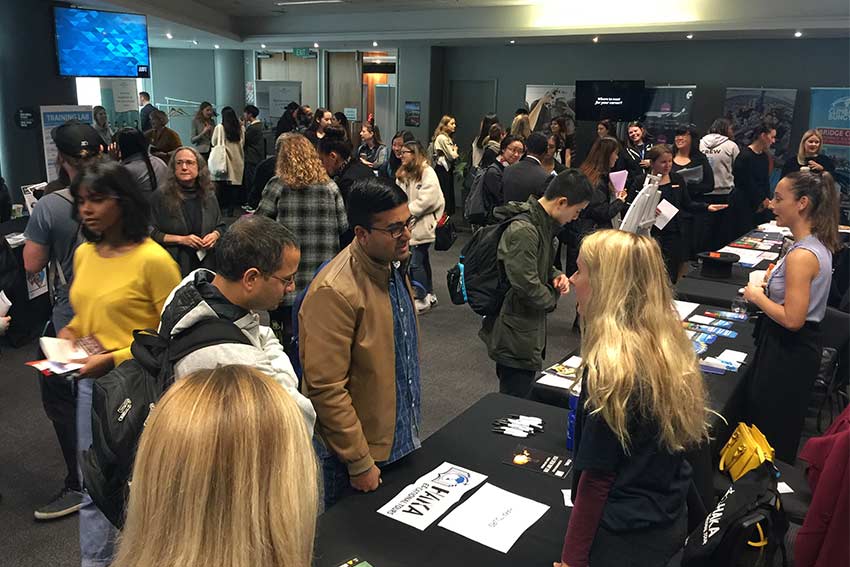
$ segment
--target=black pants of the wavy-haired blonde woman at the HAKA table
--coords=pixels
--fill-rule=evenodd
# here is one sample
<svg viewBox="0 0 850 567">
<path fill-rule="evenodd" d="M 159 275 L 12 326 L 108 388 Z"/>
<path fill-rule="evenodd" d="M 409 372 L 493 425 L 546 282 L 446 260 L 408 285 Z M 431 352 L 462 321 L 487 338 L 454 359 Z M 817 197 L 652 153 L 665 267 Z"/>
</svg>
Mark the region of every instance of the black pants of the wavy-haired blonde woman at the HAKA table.
<svg viewBox="0 0 850 567">
<path fill-rule="evenodd" d="M 590 548 L 593 567 L 664 567 L 685 544 L 688 514 L 668 526 L 612 532 L 600 525 Z"/>
</svg>

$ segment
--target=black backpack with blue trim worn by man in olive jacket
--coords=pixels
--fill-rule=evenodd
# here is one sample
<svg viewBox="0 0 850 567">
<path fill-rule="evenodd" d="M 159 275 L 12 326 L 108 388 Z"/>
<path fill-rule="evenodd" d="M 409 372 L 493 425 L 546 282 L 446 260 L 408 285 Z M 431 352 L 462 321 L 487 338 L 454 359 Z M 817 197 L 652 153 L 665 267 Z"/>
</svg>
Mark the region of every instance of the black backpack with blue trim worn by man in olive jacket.
<svg viewBox="0 0 850 567">
<path fill-rule="evenodd" d="M 468 303 L 482 316 L 498 315 L 511 284 L 499 261 L 499 241 L 515 220 L 530 220 L 527 213 L 477 230 L 460 251 L 458 263 L 449 269 L 446 283 L 452 303 Z"/>
</svg>

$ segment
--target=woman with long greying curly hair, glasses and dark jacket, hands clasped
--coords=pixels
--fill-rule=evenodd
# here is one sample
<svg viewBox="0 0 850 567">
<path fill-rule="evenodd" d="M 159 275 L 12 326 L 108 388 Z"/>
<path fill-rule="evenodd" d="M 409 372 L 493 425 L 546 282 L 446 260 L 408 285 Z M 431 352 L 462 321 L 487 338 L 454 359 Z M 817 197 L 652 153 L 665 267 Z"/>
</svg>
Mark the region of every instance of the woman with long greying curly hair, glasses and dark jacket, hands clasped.
<svg viewBox="0 0 850 567">
<path fill-rule="evenodd" d="M 183 277 L 198 268 L 215 271 L 215 244 L 224 234 L 224 220 L 198 150 L 183 146 L 174 152 L 151 208 L 151 238 L 168 250 Z"/>
</svg>

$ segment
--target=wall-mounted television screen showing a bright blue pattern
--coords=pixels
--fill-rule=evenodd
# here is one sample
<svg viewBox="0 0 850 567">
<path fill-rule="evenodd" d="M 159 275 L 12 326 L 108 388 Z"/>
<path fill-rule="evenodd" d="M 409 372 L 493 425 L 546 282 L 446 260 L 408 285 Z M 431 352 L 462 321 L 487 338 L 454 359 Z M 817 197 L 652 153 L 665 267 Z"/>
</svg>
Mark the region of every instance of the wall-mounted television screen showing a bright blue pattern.
<svg viewBox="0 0 850 567">
<path fill-rule="evenodd" d="M 54 22 L 63 77 L 150 77 L 145 16 L 56 6 Z"/>
</svg>

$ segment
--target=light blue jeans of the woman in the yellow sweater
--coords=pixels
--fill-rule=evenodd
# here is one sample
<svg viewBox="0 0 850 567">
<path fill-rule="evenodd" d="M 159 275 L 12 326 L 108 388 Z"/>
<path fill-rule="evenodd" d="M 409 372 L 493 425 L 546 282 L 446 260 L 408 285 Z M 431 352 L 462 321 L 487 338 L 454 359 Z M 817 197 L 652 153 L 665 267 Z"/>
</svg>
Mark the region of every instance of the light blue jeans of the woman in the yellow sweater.
<svg viewBox="0 0 850 567">
<path fill-rule="evenodd" d="M 77 382 L 77 446 L 87 451 L 92 444 L 91 406 L 94 380 Z M 82 474 L 80 475 L 82 477 Z M 92 502 L 83 489 L 80 508 L 80 559 L 82 567 L 107 567 L 115 551 L 115 527 Z"/>
</svg>

